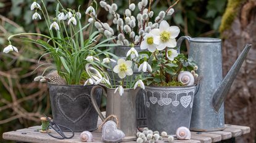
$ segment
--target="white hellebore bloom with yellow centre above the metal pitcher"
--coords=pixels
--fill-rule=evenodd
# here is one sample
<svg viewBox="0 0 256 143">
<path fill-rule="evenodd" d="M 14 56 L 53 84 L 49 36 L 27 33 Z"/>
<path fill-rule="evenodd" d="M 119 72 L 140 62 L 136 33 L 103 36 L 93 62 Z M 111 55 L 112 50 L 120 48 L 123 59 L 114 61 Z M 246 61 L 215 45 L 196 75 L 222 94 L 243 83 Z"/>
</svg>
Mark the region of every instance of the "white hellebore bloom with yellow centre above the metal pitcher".
<svg viewBox="0 0 256 143">
<path fill-rule="evenodd" d="M 120 79 L 123 79 L 126 77 L 126 75 L 133 74 L 133 69 L 131 69 L 132 64 L 132 61 L 125 61 L 120 58 L 117 61 L 117 66 L 115 66 L 113 71 L 118 74 L 118 77 L 120 77 Z"/>
</svg>

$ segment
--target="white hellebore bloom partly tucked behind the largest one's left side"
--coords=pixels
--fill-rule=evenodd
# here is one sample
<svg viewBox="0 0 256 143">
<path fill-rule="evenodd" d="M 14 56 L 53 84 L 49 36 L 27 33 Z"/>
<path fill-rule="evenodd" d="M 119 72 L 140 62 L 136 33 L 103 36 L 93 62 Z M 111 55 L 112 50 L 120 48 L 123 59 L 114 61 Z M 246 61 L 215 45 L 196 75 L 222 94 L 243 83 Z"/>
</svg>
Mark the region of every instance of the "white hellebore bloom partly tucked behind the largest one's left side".
<svg viewBox="0 0 256 143">
<path fill-rule="evenodd" d="M 157 49 L 157 45 L 154 44 L 154 35 L 152 33 L 146 34 L 144 41 L 141 42 L 141 50 L 146 49 L 152 53 Z"/>
</svg>

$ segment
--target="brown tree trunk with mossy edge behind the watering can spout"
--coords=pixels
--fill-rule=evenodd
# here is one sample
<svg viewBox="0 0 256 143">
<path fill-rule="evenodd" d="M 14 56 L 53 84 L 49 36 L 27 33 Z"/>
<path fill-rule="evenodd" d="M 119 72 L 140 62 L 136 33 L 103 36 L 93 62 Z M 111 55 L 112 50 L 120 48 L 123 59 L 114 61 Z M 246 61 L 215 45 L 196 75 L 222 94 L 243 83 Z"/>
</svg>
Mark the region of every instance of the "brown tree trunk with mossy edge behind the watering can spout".
<svg viewBox="0 0 256 143">
<path fill-rule="evenodd" d="M 223 37 L 223 74 L 226 75 L 244 45 L 252 44 L 225 101 L 226 123 L 250 126 L 237 142 L 256 142 L 256 0 L 229 0 L 220 26 Z M 234 4 L 239 2 L 240 4 Z M 235 7 L 233 7 L 235 6 Z"/>
</svg>

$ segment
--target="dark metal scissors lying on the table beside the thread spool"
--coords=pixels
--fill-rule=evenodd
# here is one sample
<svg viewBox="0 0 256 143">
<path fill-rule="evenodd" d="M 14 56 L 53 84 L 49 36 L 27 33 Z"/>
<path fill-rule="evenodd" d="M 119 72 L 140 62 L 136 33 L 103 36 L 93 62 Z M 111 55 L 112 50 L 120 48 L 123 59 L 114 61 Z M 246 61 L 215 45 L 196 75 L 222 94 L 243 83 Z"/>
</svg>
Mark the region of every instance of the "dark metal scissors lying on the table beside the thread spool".
<svg viewBox="0 0 256 143">
<path fill-rule="evenodd" d="M 54 120 L 51 120 L 45 114 L 44 114 L 44 116 L 46 117 L 47 121 L 49 122 L 49 125 L 46 127 L 46 132 L 47 132 L 47 134 L 49 134 L 49 136 L 52 136 L 56 139 L 71 139 L 74 136 L 74 131 L 72 131 L 72 129 L 68 128 L 67 126 L 58 125 L 57 123 L 54 122 Z M 51 134 L 48 130 L 50 127 L 52 129 L 54 129 L 54 131 L 56 131 L 60 136 L 54 136 L 53 134 Z M 68 131 L 70 131 L 72 133 L 72 136 L 66 136 L 63 133 L 62 129 L 60 129 L 60 127 L 65 128 Z"/>
</svg>

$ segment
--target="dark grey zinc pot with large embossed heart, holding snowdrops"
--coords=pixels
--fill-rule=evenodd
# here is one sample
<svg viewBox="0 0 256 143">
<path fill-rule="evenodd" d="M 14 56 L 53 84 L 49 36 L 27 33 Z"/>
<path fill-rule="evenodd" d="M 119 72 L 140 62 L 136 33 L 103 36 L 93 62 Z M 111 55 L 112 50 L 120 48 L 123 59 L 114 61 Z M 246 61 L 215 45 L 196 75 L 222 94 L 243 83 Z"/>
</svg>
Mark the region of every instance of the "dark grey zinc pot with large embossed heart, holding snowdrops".
<svg viewBox="0 0 256 143">
<path fill-rule="evenodd" d="M 91 102 L 93 85 L 56 85 L 48 83 L 54 122 L 73 131 L 94 131 L 97 112 Z M 95 91 L 96 103 L 101 103 L 102 89 Z M 65 131 L 65 129 L 63 129 Z"/>
</svg>

